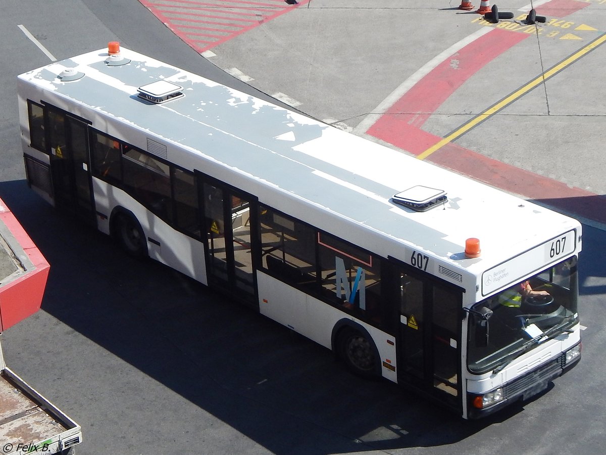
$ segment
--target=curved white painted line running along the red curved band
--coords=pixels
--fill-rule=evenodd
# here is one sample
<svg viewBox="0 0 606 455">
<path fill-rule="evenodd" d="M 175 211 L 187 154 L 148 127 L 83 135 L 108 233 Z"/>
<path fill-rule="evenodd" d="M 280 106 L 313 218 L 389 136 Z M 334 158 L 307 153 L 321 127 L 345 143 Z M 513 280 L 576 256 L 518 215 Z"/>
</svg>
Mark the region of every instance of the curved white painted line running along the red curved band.
<svg viewBox="0 0 606 455">
<path fill-rule="evenodd" d="M 362 120 L 358 126 L 353 129 L 353 133 L 360 136 L 367 132 L 367 130 L 375 124 L 379 117 L 385 113 L 387 109 L 389 109 L 393 104 L 398 101 L 398 99 L 402 98 L 408 90 L 415 86 L 422 78 L 428 75 L 436 66 L 441 64 L 445 59 L 453 55 L 454 53 L 461 50 L 470 42 L 478 39 L 482 35 L 486 35 L 486 33 L 490 33 L 493 30 L 491 27 L 482 27 L 477 32 L 471 33 L 471 35 L 466 38 L 461 39 L 461 41 L 451 45 L 444 52 L 436 55 L 433 59 L 428 61 L 424 66 L 418 69 L 415 74 L 410 76 L 410 78 L 406 79 L 397 89 L 393 90 L 387 98 L 381 101 L 381 104 L 373 109 L 372 113 L 365 116 L 364 120 Z"/>
</svg>

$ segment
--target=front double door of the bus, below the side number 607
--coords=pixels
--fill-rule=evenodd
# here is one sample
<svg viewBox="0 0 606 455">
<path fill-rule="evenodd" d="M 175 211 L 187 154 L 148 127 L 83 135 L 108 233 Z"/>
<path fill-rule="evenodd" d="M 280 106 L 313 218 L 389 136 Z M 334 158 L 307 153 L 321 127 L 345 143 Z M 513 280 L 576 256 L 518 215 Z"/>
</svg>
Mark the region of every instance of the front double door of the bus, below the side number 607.
<svg viewBox="0 0 606 455">
<path fill-rule="evenodd" d="M 396 273 L 398 381 L 461 408 L 461 291 L 410 271 Z"/>
</svg>

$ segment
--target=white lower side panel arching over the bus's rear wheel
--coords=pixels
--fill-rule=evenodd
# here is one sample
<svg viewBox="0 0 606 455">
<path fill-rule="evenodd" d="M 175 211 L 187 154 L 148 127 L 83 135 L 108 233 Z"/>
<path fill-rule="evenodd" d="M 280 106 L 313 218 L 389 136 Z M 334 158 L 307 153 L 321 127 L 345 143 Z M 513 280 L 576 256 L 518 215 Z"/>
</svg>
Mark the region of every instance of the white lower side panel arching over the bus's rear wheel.
<svg viewBox="0 0 606 455">
<path fill-rule="evenodd" d="M 94 177 L 93 190 L 99 215 L 97 225 L 101 232 L 110 234 L 110 215 L 113 209 L 118 206 L 124 207 L 133 212 L 141 224 L 147 238 L 150 258 L 208 285 L 204 243 L 175 231 L 126 192 Z"/>
</svg>

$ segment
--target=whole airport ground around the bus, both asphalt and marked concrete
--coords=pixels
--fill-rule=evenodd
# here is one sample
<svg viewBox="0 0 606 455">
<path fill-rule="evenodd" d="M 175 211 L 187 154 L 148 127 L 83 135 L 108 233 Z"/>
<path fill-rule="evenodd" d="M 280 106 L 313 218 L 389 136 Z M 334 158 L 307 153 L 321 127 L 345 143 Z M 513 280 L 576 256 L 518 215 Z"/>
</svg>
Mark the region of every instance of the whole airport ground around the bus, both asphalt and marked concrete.
<svg viewBox="0 0 606 455">
<path fill-rule="evenodd" d="M 499 10 L 518 22 L 500 24 L 434 0 L 201 3 L 2 2 L 0 197 L 51 266 L 42 310 L 4 332 L 2 346 L 10 368 L 81 424 L 77 452 L 602 453 L 606 235 L 592 226 L 606 213 L 606 4 L 534 2 L 546 21 L 531 32 L 517 19 L 530 7 L 512 1 Z M 182 24 L 223 31 L 179 35 Z M 327 349 L 158 263 L 125 257 L 27 188 L 16 75 L 50 59 L 19 25 L 57 59 L 120 41 L 574 212 L 585 221 L 583 359 L 536 399 L 464 422 L 352 377 Z"/>
</svg>

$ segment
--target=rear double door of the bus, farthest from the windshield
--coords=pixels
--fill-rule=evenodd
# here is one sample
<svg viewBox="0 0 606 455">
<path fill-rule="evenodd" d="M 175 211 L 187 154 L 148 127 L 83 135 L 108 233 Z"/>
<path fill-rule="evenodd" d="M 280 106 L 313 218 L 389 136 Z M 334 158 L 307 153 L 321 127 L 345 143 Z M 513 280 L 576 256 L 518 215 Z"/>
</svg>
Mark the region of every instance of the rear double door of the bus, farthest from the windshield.
<svg viewBox="0 0 606 455">
<path fill-rule="evenodd" d="M 50 169 L 56 207 L 95 224 L 91 178 L 88 171 L 88 126 L 47 107 Z"/>
</svg>

